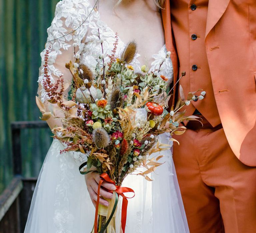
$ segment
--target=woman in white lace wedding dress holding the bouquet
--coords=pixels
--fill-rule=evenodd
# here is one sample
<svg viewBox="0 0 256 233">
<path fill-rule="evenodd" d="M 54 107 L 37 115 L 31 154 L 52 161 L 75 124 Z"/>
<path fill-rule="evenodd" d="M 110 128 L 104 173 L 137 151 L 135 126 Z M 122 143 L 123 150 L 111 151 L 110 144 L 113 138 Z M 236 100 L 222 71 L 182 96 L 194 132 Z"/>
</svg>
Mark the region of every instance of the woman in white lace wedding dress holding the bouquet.
<svg viewBox="0 0 256 233">
<path fill-rule="evenodd" d="M 47 30 L 46 49 L 41 53 L 38 96 L 46 109 L 48 96 L 42 82 L 49 46 L 48 73 L 53 82 L 63 74 L 65 83 L 70 83 L 72 77 L 65 63 L 73 61 L 74 56 L 91 68 L 96 66 L 95 59 L 101 54 L 98 30 L 108 53 L 116 38 L 117 53 L 125 43 L 135 39 L 140 55 L 136 55 L 134 69 L 139 72 L 142 65 L 158 69 L 167 52 L 160 11 L 162 4 L 163 0 L 60 1 Z M 163 66 L 163 75 L 170 83 L 173 76 L 171 60 L 167 59 Z M 66 95 L 69 90 L 70 87 L 66 88 Z M 61 125 L 53 117 L 47 122 L 51 128 Z M 171 143 L 168 134 L 160 135 L 159 140 Z M 60 154 L 63 148 L 60 141 L 53 139 L 35 187 L 25 233 L 90 233 L 92 230 L 99 174 L 81 175 L 78 167 L 86 158 L 79 152 Z M 189 232 L 171 150 L 164 151 L 164 155 L 162 162 L 165 163 L 151 174 L 152 182 L 142 176 L 128 175 L 123 183 L 135 191 L 135 197 L 128 203 L 127 233 Z M 113 188 L 109 183 L 102 186 Z M 104 189 L 100 194 L 107 198 L 112 195 Z M 104 199 L 100 199 L 100 203 L 108 204 Z"/>
</svg>

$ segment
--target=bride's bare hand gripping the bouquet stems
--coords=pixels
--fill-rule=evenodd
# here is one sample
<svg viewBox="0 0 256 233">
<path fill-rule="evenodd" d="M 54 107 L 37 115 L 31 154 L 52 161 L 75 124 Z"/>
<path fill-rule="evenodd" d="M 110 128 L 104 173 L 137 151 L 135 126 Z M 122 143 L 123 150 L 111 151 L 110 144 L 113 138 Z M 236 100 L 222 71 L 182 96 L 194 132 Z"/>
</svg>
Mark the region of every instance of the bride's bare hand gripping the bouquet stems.
<svg viewBox="0 0 256 233">
<path fill-rule="evenodd" d="M 96 206 L 98 184 L 99 184 L 100 179 L 101 179 L 100 174 L 98 172 L 89 172 L 85 175 L 85 182 L 87 185 L 87 189 L 88 189 L 88 192 L 90 194 L 90 197 L 91 197 L 91 200 L 92 200 L 92 203 L 94 206 Z M 116 187 L 114 184 L 111 184 L 106 181 L 103 181 L 101 187 L 104 187 L 106 189 L 113 190 L 113 191 L 116 190 Z M 109 198 L 109 199 L 111 199 L 113 196 L 112 193 L 106 191 L 103 188 L 100 188 L 100 195 L 102 197 Z M 105 206 L 109 205 L 108 201 L 104 200 L 101 197 L 100 197 L 100 204 L 105 205 Z"/>
</svg>

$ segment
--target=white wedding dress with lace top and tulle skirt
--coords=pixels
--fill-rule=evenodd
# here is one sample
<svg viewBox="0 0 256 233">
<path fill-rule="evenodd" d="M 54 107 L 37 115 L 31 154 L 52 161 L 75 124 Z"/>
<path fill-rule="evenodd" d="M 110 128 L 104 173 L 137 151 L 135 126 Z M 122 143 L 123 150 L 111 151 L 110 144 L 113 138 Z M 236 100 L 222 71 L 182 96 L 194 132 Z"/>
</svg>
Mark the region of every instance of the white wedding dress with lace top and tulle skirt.
<svg viewBox="0 0 256 233">
<path fill-rule="evenodd" d="M 70 77 L 65 63 L 74 58 L 73 43 L 77 44 L 76 54 L 80 55 L 80 61 L 92 69 L 96 66 L 96 59 L 101 54 L 98 29 L 104 40 L 104 50 L 111 54 L 115 32 L 100 20 L 99 13 L 93 10 L 87 0 L 63 0 L 57 4 L 55 17 L 48 28 L 49 42 L 45 46 L 47 49 L 51 45 L 48 73 L 53 82 L 61 74 L 64 78 Z M 59 39 L 54 40 L 56 38 Z M 123 46 L 119 38 L 117 53 Z M 46 49 L 41 53 L 42 66 L 38 80 L 38 95 L 42 102 L 48 98 L 42 88 Z M 151 69 L 159 68 L 165 56 L 164 46 L 158 54 L 153 55 Z M 133 66 L 135 70 L 140 70 L 141 65 L 137 59 Z M 167 59 L 163 66 L 163 75 L 171 79 L 171 60 Z M 171 143 L 168 134 L 160 135 L 159 140 Z M 25 233 L 90 233 L 92 230 L 95 208 L 84 175 L 78 169 L 86 158 L 79 152 L 60 154 L 63 148 L 62 143 L 53 139 L 35 187 Z M 156 173 L 151 174 L 152 182 L 142 176 L 128 175 L 122 185 L 135 191 L 135 197 L 128 199 L 126 233 L 189 232 L 172 151 L 167 150 L 161 154 L 165 155 L 162 158 L 165 163 L 157 168 Z"/>
</svg>

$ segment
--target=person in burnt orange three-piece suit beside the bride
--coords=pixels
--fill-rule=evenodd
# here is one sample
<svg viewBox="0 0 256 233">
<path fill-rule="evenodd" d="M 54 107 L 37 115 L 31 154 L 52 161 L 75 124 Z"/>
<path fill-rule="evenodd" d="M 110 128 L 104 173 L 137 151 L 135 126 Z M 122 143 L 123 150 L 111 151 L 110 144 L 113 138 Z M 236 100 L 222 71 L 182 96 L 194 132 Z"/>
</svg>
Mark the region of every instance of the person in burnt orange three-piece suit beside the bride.
<svg viewBox="0 0 256 233">
<path fill-rule="evenodd" d="M 162 17 L 174 83 L 206 91 L 173 152 L 190 232 L 254 233 L 256 1 L 166 0 Z"/>
</svg>

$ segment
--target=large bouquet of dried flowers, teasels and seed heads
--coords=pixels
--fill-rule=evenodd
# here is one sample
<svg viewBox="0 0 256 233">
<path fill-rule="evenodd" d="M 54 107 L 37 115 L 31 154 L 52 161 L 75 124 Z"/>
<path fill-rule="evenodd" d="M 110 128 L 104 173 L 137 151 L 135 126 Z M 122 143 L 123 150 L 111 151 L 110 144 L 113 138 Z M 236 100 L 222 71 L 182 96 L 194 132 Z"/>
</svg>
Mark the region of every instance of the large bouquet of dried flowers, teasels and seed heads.
<svg viewBox="0 0 256 233">
<path fill-rule="evenodd" d="M 112 221 L 119 195 L 123 197 L 122 214 L 126 216 L 124 205 L 127 206 L 127 199 L 124 192 L 133 190 L 121 187 L 123 180 L 128 174 L 138 171 L 138 175 L 151 181 L 148 174 L 162 164 L 159 161 L 162 156 L 150 155 L 170 148 L 167 144 L 159 143 L 157 135 L 164 132 L 169 132 L 170 135 L 184 133 L 186 128 L 180 123 L 197 120 L 198 117 L 185 116 L 185 111 L 180 110 L 192 100 L 201 100 L 205 95 L 202 92 L 196 96 L 194 92 L 185 98 L 180 86 L 180 99 L 175 107 L 171 106 L 167 111 L 170 93 L 176 84 L 170 88 L 169 93 L 166 92 L 167 81 L 171 77 L 160 75 L 164 61 L 158 70 L 148 72 L 144 65 L 141 73 L 135 73 L 130 64 L 136 55 L 136 43 L 130 42 L 120 56 L 116 57 L 117 43 L 116 37 L 110 55 L 104 54 L 101 43 L 102 54 L 95 70 L 80 63 L 79 56 L 76 56 L 74 62 L 66 64 L 73 76 L 68 99 L 63 96 L 66 88 L 63 77 L 52 84 L 48 76 L 48 48 L 43 86 L 53 106 L 50 108 L 51 112 L 46 112 L 42 102 L 38 98 L 36 100 L 43 112 L 43 120 L 57 117 L 63 123 L 63 126 L 52 129 L 54 137 L 66 145 L 61 152 L 80 151 L 87 155 L 87 162 L 79 168 L 81 174 L 97 171 L 102 180 L 112 182 L 117 187 L 107 215 L 101 214 L 104 207 L 99 207 L 97 202 L 93 229 L 95 233 L 110 232 L 109 223 Z M 106 56 L 110 58 L 108 63 L 104 60 Z M 169 57 L 170 52 L 167 52 L 166 58 Z M 181 77 L 183 76 L 185 73 L 182 73 Z M 56 110 L 61 110 L 63 115 L 56 116 Z M 170 140 L 175 141 L 171 137 Z M 139 167 L 146 169 L 139 171 Z M 124 228 L 125 222 L 122 222 L 123 232 Z"/>
</svg>

